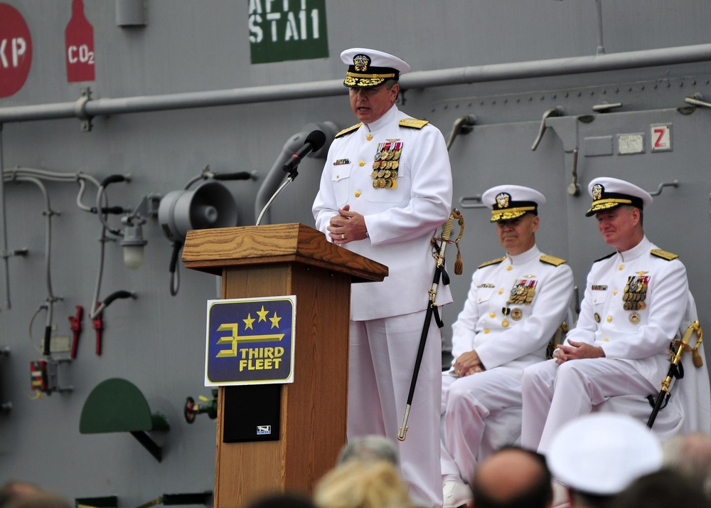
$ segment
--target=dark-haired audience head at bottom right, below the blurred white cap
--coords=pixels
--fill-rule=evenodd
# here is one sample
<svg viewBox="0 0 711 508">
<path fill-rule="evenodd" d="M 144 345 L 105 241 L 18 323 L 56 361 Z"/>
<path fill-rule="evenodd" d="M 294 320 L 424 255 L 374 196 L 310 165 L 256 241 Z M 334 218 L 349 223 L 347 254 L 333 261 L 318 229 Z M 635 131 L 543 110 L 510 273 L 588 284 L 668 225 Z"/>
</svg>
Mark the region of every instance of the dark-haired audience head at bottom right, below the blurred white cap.
<svg viewBox="0 0 711 508">
<path fill-rule="evenodd" d="M 701 486 L 673 469 L 662 469 L 634 480 L 610 508 L 708 508 Z"/>
</svg>

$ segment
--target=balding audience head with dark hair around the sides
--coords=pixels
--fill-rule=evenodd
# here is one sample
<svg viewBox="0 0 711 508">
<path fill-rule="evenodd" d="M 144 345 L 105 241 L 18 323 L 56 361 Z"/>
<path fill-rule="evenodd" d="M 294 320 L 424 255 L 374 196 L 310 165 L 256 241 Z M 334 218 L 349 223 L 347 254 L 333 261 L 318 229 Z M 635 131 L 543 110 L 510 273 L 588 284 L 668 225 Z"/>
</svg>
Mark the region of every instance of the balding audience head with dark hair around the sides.
<svg viewBox="0 0 711 508">
<path fill-rule="evenodd" d="M 545 457 L 506 447 L 481 462 L 471 488 L 476 508 L 546 508 L 552 491 Z"/>
</svg>

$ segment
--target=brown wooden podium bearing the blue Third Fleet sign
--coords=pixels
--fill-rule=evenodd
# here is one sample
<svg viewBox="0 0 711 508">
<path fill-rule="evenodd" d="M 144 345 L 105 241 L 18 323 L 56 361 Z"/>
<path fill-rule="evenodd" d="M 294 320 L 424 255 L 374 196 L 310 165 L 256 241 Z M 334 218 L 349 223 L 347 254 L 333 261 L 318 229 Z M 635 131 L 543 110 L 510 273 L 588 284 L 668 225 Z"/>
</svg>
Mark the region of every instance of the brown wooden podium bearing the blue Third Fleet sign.
<svg viewBox="0 0 711 508">
<path fill-rule="evenodd" d="M 351 282 L 383 280 L 387 267 L 299 223 L 188 231 L 183 262 L 222 275 L 223 298 L 296 295 L 294 383 L 277 388 L 279 440 L 224 443 L 225 391 L 250 387 L 219 388 L 215 508 L 311 494 L 346 443 Z"/>
</svg>

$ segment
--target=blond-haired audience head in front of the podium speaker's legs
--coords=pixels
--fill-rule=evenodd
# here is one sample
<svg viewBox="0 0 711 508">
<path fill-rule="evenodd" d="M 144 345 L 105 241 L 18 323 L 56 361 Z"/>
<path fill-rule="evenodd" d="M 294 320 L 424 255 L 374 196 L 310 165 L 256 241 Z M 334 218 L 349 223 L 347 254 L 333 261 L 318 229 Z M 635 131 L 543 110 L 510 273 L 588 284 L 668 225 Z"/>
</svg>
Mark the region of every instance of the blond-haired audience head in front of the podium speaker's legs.
<svg viewBox="0 0 711 508">
<path fill-rule="evenodd" d="M 343 462 L 316 483 L 319 508 L 412 508 L 407 484 L 385 460 Z"/>
</svg>

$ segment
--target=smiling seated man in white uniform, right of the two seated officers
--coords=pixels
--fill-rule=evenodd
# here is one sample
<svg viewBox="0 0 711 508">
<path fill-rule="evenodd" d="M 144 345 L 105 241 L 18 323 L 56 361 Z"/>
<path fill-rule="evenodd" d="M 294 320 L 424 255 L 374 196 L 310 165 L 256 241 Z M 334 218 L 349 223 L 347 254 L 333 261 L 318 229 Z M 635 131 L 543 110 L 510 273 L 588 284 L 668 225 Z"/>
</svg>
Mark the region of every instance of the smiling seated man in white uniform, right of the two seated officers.
<svg viewBox="0 0 711 508">
<path fill-rule="evenodd" d="M 644 235 L 648 192 L 614 178 L 594 179 L 588 190 L 586 215 L 615 251 L 592 265 L 577 325 L 553 359 L 524 371 L 521 445 L 541 453 L 561 425 L 608 398 L 658 393 L 687 309 L 683 263 Z"/>
</svg>

